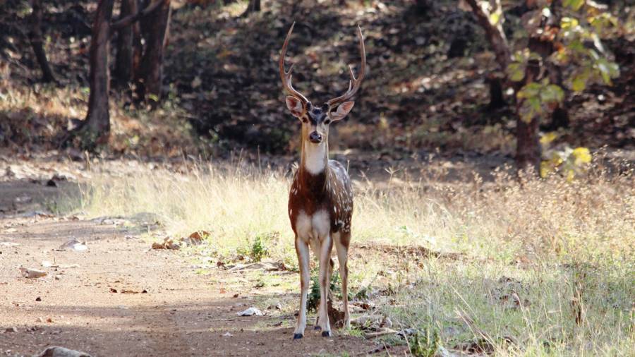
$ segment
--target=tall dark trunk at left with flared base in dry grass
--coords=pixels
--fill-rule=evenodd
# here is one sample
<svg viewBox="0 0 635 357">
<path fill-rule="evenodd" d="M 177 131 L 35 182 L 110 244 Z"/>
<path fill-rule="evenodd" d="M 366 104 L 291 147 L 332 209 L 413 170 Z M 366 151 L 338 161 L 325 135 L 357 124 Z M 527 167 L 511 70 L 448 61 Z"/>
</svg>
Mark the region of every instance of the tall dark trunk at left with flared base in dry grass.
<svg viewBox="0 0 635 357">
<path fill-rule="evenodd" d="M 113 5 L 114 0 L 99 0 L 95 23 L 92 25 L 88 113 L 75 133 L 80 138 L 82 147 L 89 150 L 108 143 L 110 135 L 108 52 Z"/>
</svg>

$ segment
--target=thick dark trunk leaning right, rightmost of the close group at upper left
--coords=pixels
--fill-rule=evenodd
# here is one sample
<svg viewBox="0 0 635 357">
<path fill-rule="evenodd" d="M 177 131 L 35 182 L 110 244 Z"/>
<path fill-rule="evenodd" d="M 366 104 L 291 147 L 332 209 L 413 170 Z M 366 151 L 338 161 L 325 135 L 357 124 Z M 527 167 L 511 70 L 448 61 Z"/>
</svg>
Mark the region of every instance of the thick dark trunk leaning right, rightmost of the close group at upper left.
<svg viewBox="0 0 635 357">
<path fill-rule="evenodd" d="M 170 0 L 164 0 L 152 16 L 147 16 L 143 20 L 142 29 L 146 44 L 140 63 L 140 79 L 137 83 L 138 100 L 149 97 L 157 102 L 161 98 L 163 53 L 170 13 Z"/>
</svg>

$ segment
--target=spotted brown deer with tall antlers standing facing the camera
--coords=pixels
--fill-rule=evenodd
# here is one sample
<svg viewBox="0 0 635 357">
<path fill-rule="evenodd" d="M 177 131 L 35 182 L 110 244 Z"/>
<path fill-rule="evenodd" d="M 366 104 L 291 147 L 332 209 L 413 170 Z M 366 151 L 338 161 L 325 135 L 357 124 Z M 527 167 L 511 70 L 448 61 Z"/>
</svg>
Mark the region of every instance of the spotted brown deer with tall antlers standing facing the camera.
<svg viewBox="0 0 635 357">
<path fill-rule="evenodd" d="M 295 25 L 295 23 L 294 23 Z M 315 329 L 322 330 L 323 337 L 331 336 L 327 296 L 329 280 L 333 271 L 331 250 L 333 244 L 339 260 L 341 294 L 344 303 L 344 327 L 349 328 L 349 301 L 347 296 L 348 267 L 346 259 L 351 242 L 351 216 L 353 215 L 353 188 L 349 174 L 337 161 L 329 160 L 329 125 L 340 121 L 353 109 L 354 102 L 349 101 L 359 90 L 366 68 L 366 53 L 361 28 L 358 26 L 361 66 L 355 77 L 353 67 L 349 66 L 351 80 L 349 90 L 337 98 L 330 99 L 322 106 L 315 106 L 291 85 L 291 64 L 289 71 L 284 69 L 284 56 L 289 44 L 291 25 L 280 54 L 280 77 L 284 90 L 289 92 L 286 107 L 291 115 L 300 119 L 301 159 L 289 193 L 289 219 L 296 235 L 296 253 L 300 267 L 300 312 L 294 332 L 294 339 L 301 339 L 306 328 L 306 301 L 309 284 L 309 246 L 320 264 L 320 305 L 317 309 Z"/>
</svg>

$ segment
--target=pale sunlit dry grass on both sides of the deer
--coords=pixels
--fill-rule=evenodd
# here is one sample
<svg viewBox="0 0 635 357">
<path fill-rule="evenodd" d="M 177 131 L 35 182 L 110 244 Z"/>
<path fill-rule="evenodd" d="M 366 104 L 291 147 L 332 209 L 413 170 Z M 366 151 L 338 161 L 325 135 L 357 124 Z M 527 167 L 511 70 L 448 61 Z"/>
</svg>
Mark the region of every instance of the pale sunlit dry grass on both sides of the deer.
<svg viewBox="0 0 635 357">
<path fill-rule="evenodd" d="M 265 237 L 274 258 L 293 264 L 289 177 L 231 167 L 94 174 L 82 209 L 92 216 L 153 212 L 167 234 L 210 231 L 207 250 L 219 254 Z M 517 180 L 504 170 L 489 182 L 475 176 L 444 183 L 443 171 L 382 184 L 355 181 L 355 242 L 463 255 L 353 256 L 353 290 L 388 287 L 388 295 L 375 296 L 383 313 L 397 325 L 436 332 L 448 349 L 480 340 L 502 355 L 631 354 L 634 172 L 624 165 L 621 174 L 609 171 L 595 164 L 588 177 L 572 183 L 557 176 Z"/>
</svg>

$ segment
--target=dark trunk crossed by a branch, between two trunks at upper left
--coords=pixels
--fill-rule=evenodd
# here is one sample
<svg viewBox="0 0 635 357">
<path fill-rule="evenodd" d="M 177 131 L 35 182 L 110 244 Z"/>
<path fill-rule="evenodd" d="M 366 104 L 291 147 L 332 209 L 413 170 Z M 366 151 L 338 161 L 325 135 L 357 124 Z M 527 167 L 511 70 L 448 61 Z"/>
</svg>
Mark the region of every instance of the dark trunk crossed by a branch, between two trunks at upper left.
<svg viewBox="0 0 635 357">
<path fill-rule="evenodd" d="M 121 0 L 121 18 L 133 13 L 137 13 L 137 0 Z M 135 49 L 133 43 L 135 40 L 135 32 L 138 33 L 138 22 L 132 23 L 125 28 L 121 28 L 117 37 L 117 54 L 115 57 L 115 66 L 112 73 L 114 83 L 123 87 L 133 79 L 134 56 Z M 135 28 L 137 30 L 135 31 Z"/>
</svg>

